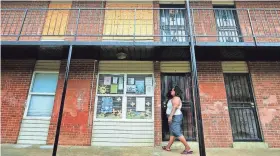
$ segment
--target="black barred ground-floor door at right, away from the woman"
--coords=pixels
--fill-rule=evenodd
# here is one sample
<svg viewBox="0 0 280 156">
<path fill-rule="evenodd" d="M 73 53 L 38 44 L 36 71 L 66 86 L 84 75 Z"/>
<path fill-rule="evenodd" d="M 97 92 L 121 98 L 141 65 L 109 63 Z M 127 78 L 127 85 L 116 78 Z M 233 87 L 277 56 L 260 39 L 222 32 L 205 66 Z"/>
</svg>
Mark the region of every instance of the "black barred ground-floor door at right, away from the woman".
<svg viewBox="0 0 280 156">
<path fill-rule="evenodd" d="M 261 141 L 249 74 L 225 74 L 225 87 L 234 141 Z"/>
</svg>

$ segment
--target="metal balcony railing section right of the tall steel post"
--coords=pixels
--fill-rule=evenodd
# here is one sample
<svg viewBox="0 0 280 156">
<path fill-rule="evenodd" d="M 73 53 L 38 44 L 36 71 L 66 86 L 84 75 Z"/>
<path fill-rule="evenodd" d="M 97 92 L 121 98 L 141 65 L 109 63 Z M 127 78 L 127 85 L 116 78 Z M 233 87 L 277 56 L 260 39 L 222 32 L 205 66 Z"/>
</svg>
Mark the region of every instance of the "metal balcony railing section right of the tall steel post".
<svg viewBox="0 0 280 156">
<path fill-rule="evenodd" d="M 196 43 L 280 42 L 280 9 L 192 8 Z"/>
</svg>

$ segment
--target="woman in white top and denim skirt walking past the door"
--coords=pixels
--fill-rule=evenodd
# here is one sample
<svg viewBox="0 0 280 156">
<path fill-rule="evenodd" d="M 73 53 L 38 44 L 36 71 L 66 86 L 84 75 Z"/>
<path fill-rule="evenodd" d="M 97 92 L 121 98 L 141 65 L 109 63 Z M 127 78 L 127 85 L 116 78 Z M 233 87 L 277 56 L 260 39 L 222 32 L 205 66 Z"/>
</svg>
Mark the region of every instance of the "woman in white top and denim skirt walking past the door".
<svg viewBox="0 0 280 156">
<path fill-rule="evenodd" d="M 182 101 L 181 101 L 182 91 L 178 86 L 175 86 L 168 92 L 168 103 L 166 109 L 166 115 L 168 117 L 170 138 L 167 146 L 163 146 L 162 149 L 165 151 L 171 151 L 170 148 L 178 138 L 185 146 L 185 150 L 181 154 L 192 154 L 190 146 L 188 145 L 184 135 L 181 132 L 181 124 L 183 121 L 183 114 L 181 112 Z"/>
</svg>

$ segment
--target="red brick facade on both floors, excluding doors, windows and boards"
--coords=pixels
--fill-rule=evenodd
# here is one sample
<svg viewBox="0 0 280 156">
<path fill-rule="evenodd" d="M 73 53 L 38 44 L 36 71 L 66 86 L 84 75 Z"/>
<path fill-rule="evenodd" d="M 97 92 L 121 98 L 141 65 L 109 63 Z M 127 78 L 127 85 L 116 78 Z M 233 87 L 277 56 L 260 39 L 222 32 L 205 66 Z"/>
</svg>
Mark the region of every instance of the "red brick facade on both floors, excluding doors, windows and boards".
<svg viewBox="0 0 280 156">
<path fill-rule="evenodd" d="M 48 8 L 49 2 L 1 2 L 1 8 Z M 137 5 L 137 4 L 136 4 Z M 141 5 L 139 5 L 141 6 Z M 102 2 L 72 2 L 72 8 L 104 8 Z M 211 2 L 191 2 L 192 8 L 212 8 Z M 153 8 L 159 8 L 158 2 L 153 2 Z M 236 2 L 236 8 L 280 8 L 280 2 Z M 78 27 L 78 34 L 102 34 L 105 11 L 82 11 Z M 279 12 L 278 12 L 279 13 Z M 21 19 L 24 11 L 11 14 L 2 14 L 1 34 L 17 34 L 20 31 Z M 34 11 L 26 16 L 26 23 L 22 29 L 23 34 L 42 34 L 47 12 Z M 76 30 L 77 10 L 69 14 L 67 35 Z M 92 16 L 94 15 L 94 16 Z M 240 29 L 243 35 L 251 35 L 247 10 L 238 12 Z M 154 11 L 154 35 L 160 34 L 159 12 Z M 216 21 L 213 10 L 194 11 L 194 32 L 197 35 L 216 35 Z M 268 18 L 266 18 L 268 16 Z M 280 14 L 279 14 L 280 16 Z M 14 18 L 14 21 L 11 19 Z M 35 19 L 35 20 L 34 20 Z M 253 23 L 266 20 L 264 27 L 254 27 L 259 35 L 264 32 L 280 34 L 280 25 L 276 32 L 270 29 L 273 22 L 269 14 L 260 12 L 259 17 L 252 17 Z M 91 21 L 91 22 L 89 22 Z M 262 30 L 260 30 L 262 27 Z M 28 28 L 28 29 L 27 29 Z M 30 29 L 32 28 L 32 29 Z M 2 37 L 2 40 L 15 40 L 17 37 Z M 20 40 L 38 41 L 41 37 L 21 37 Z M 66 40 L 73 40 L 66 37 Z M 253 42 L 251 37 L 244 37 L 244 41 Z M 77 37 L 78 41 L 102 40 L 101 37 Z M 154 41 L 159 41 L 155 37 Z M 196 37 L 197 41 L 215 42 L 217 37 Z M 257 41 L 280 42 L 279 38 L 259 38 Z M 35 60 L 2 60 L 1 76 L 1 142 L 16 143 L 23 117 L 28 91 L 31 83 Z M 66 61 L 63 60 L 55 102 L 49 127 L 47 144 L 53 144 L 56 123 L 61 102 L 63 80 Z M 269 147 L 280 148 L 280 63 L 279 62 L 249 62 L 255 93 L 260 127 L 264 142 Z M 95 73 L 94 73 L 95 69 Z M 96 76 L 98 66 L 94 60 L 72 60 L 68 81 L 65 108 L 60 133 L 61 145 L 87 145 L 91 143 L 94 101 L 96 94 Z M 160 64 L 155 62 L 155 96 L 154 96 L 154 143 L 160 145 L 162 141 L 161 121 L 161 76 Z M 204 126 L 206 147 L 231 147 L 233 143 L 231 124 L 228 112 L 224 77 L 221 62 L 198 62 L 198 79 L 202 119 Z M 92 96 L 91 96 L 92 95 Z"/>
</svg>

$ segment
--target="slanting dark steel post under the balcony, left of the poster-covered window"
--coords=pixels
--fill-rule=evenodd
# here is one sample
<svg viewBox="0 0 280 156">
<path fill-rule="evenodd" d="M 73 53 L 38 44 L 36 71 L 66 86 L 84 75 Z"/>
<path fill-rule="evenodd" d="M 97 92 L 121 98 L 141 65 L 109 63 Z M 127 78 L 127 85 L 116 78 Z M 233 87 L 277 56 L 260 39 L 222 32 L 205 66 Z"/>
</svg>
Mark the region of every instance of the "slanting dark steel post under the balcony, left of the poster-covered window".
<svg viewBox="0 0 280 156">
<path fill-rule="evenodd" d="M 53 154 L 52 154 L 53 156 L 56 156 L 56 152 L 57 152 L 60 126 L 61 126 L 63 108 L 64 108 L 64 101 L 65 101 L 65 95 L 66 95 L 66 91 L 67 91 L 68 75 L 69 75 L 69 69 L 70 69 L 71 56 L 72 56 L 72 45 L 70 45 L 69 52 L 68 52 L 68 59 L 67 59 L 67 65 L 66 65 L 66 70 L 65 70 L 65 76 L 64 76 L 63 91 L 62 91 L 62 95 L 61 95 L 61 103 L 60 103 L 59 115 L 58 115 L 58 120 L 57 120 L 55 141 L 54 141 L 54 146 L 53 146 Z"/>
</svg>

